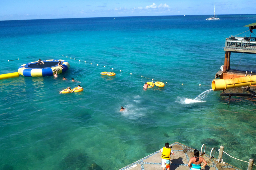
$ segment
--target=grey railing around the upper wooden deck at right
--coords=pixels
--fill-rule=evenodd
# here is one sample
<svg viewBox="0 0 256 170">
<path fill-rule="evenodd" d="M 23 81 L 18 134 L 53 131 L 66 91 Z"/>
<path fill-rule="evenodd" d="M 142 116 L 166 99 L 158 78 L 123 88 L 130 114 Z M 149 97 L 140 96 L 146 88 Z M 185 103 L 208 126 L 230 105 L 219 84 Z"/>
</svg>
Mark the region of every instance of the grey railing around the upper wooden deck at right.
<svg viewBox="0 0 256 170">
<path fill-rule="evenodd" d="M 225 49 L 255 50 L 256 37 L 229 37 L 226 38 Z"/>
</svg>

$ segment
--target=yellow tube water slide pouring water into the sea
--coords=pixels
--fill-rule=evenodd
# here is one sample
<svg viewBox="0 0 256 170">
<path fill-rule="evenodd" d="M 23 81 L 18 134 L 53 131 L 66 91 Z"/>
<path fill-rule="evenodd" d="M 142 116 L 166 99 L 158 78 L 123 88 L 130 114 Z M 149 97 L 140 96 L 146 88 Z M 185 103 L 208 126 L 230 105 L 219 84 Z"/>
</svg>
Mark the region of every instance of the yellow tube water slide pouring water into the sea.
<svg viewBox="0 0 256 170">
<path fill-rule="evenodd" d="M 251 86 L 256 84 L 256 75 L 239 77 L 234 79 L 220 79 L 212 80 L 212 89 L 213 90 L 226 90 L 229 88 L 242 87 L 242 86 Z"/>
</svg>

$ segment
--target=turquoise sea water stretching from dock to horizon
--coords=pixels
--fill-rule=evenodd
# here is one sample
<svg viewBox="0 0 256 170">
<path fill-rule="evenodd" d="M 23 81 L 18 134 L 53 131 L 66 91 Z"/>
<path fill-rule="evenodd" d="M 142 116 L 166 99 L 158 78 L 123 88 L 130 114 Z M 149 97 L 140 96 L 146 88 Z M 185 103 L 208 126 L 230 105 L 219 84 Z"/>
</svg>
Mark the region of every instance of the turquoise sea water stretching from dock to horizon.
<svg viewBox="0 0 256 170">
<path fill-rule="evenodd" d="M 231 156 L 255 159 L 255 98 L 228 104 L 209 89 L 224 64 L 225 38 L 247 31 L 256 15 L 206 18 L 0 21 L 0 74 L 39 58 L 70 63 L 57 78 L 0 80 L 0 169 L 118 170 L 176 141 L 199 150 L 205 143 L 207 154 L 223 145 Z M 231 56 L 232 69 L 256 71 L 255 64 L 251 55 Z M 144 91 L 151 79 L 167 84 Z M 78 84 L 83 92 L 58 93 Z M 223 161 L 248 166 L 226 154 Z"/>
</svg>

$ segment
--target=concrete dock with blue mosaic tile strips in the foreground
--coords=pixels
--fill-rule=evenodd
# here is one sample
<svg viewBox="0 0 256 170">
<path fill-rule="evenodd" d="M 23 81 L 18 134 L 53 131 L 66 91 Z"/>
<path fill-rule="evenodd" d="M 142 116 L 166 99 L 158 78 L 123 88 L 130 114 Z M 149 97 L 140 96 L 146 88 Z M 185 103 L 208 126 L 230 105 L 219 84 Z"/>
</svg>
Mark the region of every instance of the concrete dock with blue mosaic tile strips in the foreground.
<svg viewBox="0 0 256 170">
<path fill-rule="evenodd" d="M 188 162 L 189 159 L 194 156 L 194 149 L 185 146 L 179 142 L 170 144 L 170 146 L 172 146 L 171 149 L 175 153 L 175 155 L 171 155 L 170 170 L 189 170 Z M 159 150 L 126 167 L 121 168 L 120 170 L 162 170 L 161 152 Z M 215 157 L 218 157 L 217 152 L 215 153 Z M 210 160 L 209 155 L 204 154 L 202 157 L 207 162 L 207 165 L 204 168 L 202 168 L 202 170 L 241 170 L 227 163 L 217 164 L 217 159 L 212 158 Z"/>
</svg>

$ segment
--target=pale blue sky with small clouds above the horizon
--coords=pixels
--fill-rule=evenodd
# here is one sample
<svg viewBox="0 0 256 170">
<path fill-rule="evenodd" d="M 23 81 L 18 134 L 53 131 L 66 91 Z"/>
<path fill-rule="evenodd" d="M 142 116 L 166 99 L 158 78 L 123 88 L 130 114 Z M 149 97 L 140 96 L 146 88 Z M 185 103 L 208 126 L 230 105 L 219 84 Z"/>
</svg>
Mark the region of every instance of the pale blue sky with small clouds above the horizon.
<svg viewBox="0 0 256 170">
<path fill-rule="evenodd" d="M 0 0 L 0 21 L 162 15 L 256 14 L 256 0 Z"/>
</svg>

